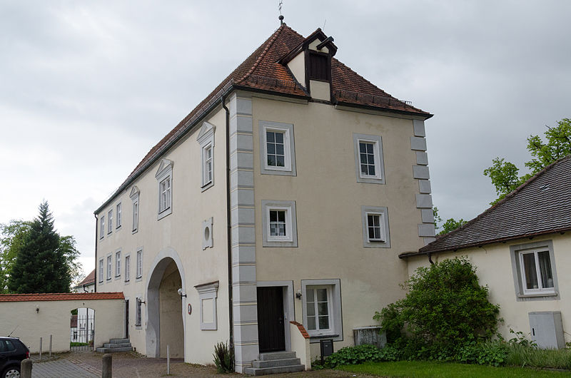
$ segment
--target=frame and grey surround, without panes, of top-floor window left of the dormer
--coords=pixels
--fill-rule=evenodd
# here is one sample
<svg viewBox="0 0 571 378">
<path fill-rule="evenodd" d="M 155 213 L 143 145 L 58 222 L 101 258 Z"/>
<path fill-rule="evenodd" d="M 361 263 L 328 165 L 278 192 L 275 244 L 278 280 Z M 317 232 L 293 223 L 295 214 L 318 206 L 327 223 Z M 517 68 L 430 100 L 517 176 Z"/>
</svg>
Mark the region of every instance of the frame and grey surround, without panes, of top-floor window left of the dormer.
<svg viewBox="0 0 571 378">
<path fill-rule="evenodd" d="M 268 165 L 268 141 L 266 134 L 268 131 L 283 133 L 283 167 Z M 260 169 L 263 175 L 297 175 L 293 124 L 260 121 Z"/>
</svg>

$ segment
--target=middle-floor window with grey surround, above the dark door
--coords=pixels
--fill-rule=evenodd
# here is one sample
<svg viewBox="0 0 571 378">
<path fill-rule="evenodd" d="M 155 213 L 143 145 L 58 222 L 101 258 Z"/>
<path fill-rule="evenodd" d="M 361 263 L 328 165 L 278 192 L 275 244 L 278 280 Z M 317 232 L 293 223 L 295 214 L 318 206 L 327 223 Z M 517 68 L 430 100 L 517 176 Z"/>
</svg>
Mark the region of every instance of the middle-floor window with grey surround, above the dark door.
<svg viewBox="0 0 571 378">
<path fill-rule="evenodd" d="M 297 247 L 295 201 L 262 201 L 263 246 Z"/>
</svg>

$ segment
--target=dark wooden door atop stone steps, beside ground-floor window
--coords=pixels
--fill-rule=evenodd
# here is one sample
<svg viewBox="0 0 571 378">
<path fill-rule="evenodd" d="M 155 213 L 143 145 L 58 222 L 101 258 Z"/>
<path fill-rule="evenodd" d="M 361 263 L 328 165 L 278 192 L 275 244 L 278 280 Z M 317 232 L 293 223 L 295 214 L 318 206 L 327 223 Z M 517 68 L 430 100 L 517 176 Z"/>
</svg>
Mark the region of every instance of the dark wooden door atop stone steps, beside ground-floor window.
<svg viewBox="0 0 571 378">
<path fill-rule="evenodd" d="M 285 350 L 282 287 L 258 287 L 258 340 L 261 353 Z"/>
</svg>

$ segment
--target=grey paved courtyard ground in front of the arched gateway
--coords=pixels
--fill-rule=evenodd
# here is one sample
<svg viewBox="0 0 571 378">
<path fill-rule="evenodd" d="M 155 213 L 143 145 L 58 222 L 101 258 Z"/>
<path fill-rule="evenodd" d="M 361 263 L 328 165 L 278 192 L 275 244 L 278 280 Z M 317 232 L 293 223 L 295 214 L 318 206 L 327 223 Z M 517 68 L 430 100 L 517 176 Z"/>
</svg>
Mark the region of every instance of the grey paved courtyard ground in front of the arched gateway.
<svg viewBox="0 0 571 378">
<path fill-rule="evenodd" d="M 96 352 L 70 352 L 54 356 L 49 361 L 34 360 L 33 378 L 95 378 L 101 377 L 101 357 Z M 37 356 L 33 356 L 37 358 Z M 134 352 L 113 353 L 113 377 L 165 377 L 166 359 L 146 358 Z M 171 359 L 169 377 L 244 377 L 241 374 L 216 374 L 210 366 L 186 364 L 182 359 Z M 367 377 L 335 370 L 274 374 L 271 377 Z"/>
</svg>

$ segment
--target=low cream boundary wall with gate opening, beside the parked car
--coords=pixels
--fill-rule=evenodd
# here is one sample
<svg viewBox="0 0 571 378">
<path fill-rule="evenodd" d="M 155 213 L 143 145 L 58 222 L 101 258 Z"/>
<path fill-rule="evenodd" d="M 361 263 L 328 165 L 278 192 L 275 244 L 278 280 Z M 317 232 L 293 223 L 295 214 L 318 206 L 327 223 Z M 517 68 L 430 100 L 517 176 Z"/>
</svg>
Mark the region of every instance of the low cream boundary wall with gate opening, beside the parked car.
<svg viewBox="0 0 571 378">
<path fill-rule="evenodd" d="M 52 352 L 68 351 L 70 312 L 79 307 L 95 310 L 95 347 L 123 337 L 123 300 L 0 302 L 0 334 L 19 337 L 31 353 L 39 352 L 40 337 L 42 352 L 49 351 L 52 334 Z"/>
</svg>

